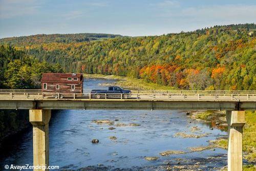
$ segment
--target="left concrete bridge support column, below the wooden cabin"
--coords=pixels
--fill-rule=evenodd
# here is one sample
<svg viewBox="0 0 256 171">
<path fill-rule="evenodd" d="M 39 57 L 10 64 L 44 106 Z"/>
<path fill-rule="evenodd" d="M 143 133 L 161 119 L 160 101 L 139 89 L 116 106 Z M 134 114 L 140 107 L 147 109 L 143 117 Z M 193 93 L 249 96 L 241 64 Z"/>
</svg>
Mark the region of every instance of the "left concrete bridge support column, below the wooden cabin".
<svg viewBox="0 0 256 171">
<path fill-rule="evenodd" d="M 49 121 L 51 110 L 29 110 L 29 121 L 33 125 L 33 165 L 49 166 Z M 34 168 L 34 171 L 44 170 Z M 48 170 L 48 169 L 45 169 Z"/>
</svg>

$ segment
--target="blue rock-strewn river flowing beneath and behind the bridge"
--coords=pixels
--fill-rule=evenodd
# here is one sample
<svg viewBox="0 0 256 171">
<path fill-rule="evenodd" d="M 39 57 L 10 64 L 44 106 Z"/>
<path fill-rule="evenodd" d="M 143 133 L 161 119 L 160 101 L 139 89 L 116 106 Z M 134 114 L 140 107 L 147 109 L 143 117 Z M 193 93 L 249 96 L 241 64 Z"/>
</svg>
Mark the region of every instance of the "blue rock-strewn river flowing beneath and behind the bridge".
<svg viewBox="0 0 256 171">
<path fill-rule="evenodd" d="M 84 89 L 106 88 L 98 85 L 105 82 L 113 83 L 115 80 L 85 80 Z M 114 125 L 97 125 L 92 122 L 95 119 L 110 119 Z M 127 126 L 115 126 L 120 123 Z M 131 123 L 140 126 L 129 126 Z M 191 127 L 195 126 L 200 130 L 191 132 Z M 109 130 L 109 127 L 116 129 Z M 209 140 L 226 135 L 190 119 L 182 111 L 59 110 L 53 112 L 49 130 L 50 165 L 59 165 L 61 170 L 165 170 L 174 165 L 192 167 L 198 162 L 203 170 L 215 170 L 215 167 L 226 165 L 227 152 L 223 149 L 159 155 L 167 150 L 189 152 L 191 147 L 206 146 Z M 177 132 L 206 133 L 208 136 L 174 137 Z M 117 139 L 111 140 L 111 136 Z M 92 139 L 99 139 L 99 143 L 91 143 Z M 5 164 L 32 165 L 32 146 L 31 128 L 15 136 L 0 156 L 1 169 Z M 146 156 L 157 156 L 159 159 L 147 161 L 144 159 Z"/>
</svg>

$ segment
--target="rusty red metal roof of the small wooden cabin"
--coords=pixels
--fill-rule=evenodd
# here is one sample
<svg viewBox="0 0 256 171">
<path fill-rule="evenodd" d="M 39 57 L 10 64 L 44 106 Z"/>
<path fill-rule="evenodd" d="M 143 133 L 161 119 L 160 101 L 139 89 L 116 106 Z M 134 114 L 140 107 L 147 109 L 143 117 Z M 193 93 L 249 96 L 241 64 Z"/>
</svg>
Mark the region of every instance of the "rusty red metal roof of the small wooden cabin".
<svg viewBox="0 0 256 171">
<path fill-rule="evenodd" d="M 74 74 L 74 73 L 43 73 L 41 82 L 44 83 L 80 83 L 80 77 L 82 74 Z M 78 78 L 77 81 L 68 80 L 68 78 Z M 83 76 L 82 76 L 83 77 Z M 61 80 L 61 78 L 67 78 L 65 80 Z"/>
</svg>

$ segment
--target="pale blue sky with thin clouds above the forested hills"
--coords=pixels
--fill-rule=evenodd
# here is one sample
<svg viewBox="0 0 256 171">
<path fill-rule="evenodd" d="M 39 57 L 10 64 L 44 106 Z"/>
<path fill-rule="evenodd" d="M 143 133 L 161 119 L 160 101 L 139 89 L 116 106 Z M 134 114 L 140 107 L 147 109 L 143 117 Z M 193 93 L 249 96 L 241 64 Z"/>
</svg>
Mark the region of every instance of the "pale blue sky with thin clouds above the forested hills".
<svg viewBox="0 0 256 171">
<path fill-rule="evenodd" d="M 0 38 L 55 33 L 148 36 L 253 22 L 255 0 L 0 0 Z"/>
</svg>

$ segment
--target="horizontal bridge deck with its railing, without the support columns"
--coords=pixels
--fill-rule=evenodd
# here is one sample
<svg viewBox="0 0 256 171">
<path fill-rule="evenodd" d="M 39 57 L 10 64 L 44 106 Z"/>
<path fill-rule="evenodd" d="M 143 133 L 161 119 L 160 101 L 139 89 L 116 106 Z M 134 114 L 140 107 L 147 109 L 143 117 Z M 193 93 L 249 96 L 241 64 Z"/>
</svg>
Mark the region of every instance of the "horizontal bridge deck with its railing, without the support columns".
<svg viewBox="0 0 256 171">
<path fill-rule="evenodd" d="M 132 90 L 127 95 L 0 89 L 0 109 L 256 110 L 256 92 Z"/>
</svg>

